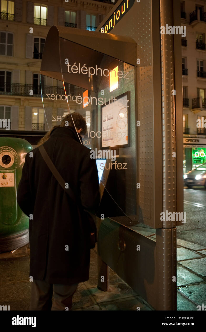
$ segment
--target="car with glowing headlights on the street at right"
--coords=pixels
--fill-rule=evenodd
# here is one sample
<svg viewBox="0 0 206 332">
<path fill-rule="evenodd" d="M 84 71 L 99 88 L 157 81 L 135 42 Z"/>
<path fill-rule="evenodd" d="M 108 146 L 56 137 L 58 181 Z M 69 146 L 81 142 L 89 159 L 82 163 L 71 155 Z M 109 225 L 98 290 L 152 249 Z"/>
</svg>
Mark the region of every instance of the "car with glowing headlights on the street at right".
<svg viewBox="0 0 206 332">
<path fill-rule="evenodd" d="M 188 188 L 204 186 L 206 189 L 206 163 L 184 174 L 184 185 Z"/>
</svg>

